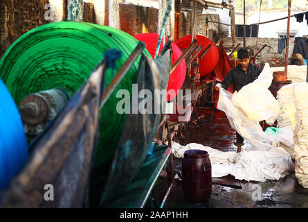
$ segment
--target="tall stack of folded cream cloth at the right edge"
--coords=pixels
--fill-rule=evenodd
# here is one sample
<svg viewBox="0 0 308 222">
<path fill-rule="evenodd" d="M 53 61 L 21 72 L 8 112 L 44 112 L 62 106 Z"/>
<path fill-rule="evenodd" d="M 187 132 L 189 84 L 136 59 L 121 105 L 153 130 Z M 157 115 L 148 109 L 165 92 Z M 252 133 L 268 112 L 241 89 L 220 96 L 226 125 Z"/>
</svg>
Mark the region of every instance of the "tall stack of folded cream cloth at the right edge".
<svg viewBox="0 0 308 222">
<path fill-rule="evenodd" d="M 308 188 L 308 83 L 292 83 L 278 91 L 281 113 L 279 127 L 289 127 L 294 133 L 293 146 L 285 148 L 296 160 L 296 178 Z"/>
</svg>

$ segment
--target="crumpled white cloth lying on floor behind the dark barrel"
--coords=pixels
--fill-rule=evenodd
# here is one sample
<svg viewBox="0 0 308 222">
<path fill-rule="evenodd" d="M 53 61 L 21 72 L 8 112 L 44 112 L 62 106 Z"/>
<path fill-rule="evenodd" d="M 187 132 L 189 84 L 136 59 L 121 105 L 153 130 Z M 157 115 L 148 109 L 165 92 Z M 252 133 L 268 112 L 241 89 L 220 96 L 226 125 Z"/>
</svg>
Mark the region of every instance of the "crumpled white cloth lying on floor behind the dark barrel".
<svg viewBox="0 0 308 222">
<path fill-rule="evenodd" d="M 201 144 L 181 146 L 172 142 L 172 153 L 183 158 L 185 151 L 199 149 L 207 151 L 212 165 L 212 178 L 228 174 L 237 180 L 260 181 L 279 180 L 294 171 L 290 155 L 283 148 L 273 147 L 270 151 L 248 151 L 240 153 L 222 152 Z"/>
</svg>

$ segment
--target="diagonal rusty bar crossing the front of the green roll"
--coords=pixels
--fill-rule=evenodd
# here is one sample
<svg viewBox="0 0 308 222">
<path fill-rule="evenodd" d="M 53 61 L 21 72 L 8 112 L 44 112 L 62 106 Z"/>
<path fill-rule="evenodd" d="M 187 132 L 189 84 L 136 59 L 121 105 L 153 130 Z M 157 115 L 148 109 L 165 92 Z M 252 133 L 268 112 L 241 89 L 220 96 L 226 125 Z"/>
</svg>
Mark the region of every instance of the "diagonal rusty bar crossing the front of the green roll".
<svg viewBox="0 0 308 222">
<path fill-rule="evenodd" d="M 111 80 L 111 83 L 109 83 L 104 94 L 102 94 L 100 108 L 102 108 L 105 105 L 105 103 L 108 101 L 109 97 L 114 92 L 116 87 L 118 87 L 119 83 L 123 80 L 124 76 L 127 74 L 129 69 L 132 67 L 132 65 L 134 65 L 134 62 L 136 62 L 138 57 L 141 55 L 141 53 L 143 52 L 143 49 L 145 49 L 145 44 L 139 41 L 136 48 L 132 52 L 132 54 L 130 54 L 130 56 L 124 62 L 123 66 L 118 71 L 118 74 L 116 74 L 116 76 L 114 76 L 114 78 Z"/>
</svg>

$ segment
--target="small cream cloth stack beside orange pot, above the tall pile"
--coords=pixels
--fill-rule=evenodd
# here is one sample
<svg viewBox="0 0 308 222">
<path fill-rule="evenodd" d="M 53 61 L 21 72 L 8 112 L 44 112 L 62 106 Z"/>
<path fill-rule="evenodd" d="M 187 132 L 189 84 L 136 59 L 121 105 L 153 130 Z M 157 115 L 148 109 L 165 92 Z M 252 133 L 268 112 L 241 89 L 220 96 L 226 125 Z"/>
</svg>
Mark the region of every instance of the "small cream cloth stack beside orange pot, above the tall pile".
<svg viewBox="0 0 308 222">
<path fill-rule="evenodd" d="M 271 71 L 284 71 L 284 67 L 271 67 Z M 288 65 L 287 80 L 292 83 L 306 82 L 307 65 Z"/>
</svg>

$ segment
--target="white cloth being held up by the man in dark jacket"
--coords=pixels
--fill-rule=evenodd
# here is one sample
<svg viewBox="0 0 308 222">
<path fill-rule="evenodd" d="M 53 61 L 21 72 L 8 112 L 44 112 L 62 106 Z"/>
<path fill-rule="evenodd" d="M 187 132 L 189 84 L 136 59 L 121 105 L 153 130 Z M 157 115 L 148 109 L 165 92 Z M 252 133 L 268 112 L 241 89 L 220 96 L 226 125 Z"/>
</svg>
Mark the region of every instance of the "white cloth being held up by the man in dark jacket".
<svg viewBox="0 0 308 222">
<path fill-rule="evenodd" d="M 226 113 L 237 133 L 259 151 L 269 151 L 277 142 L 293 145 L 291 129 L 281 128 L 280 133 L 271 136 L 264 133 L 259 123 L 266 120 L 272 124 L 280 114 L 279 103 L 268 89 L 272 79 L 271 69 L 266 63 L 259 78 L 242 87 L 239 92 L 231 94 L 223 88 L 219 90 L 217 108 Z"/>
</svg>

